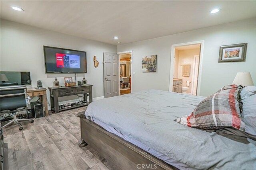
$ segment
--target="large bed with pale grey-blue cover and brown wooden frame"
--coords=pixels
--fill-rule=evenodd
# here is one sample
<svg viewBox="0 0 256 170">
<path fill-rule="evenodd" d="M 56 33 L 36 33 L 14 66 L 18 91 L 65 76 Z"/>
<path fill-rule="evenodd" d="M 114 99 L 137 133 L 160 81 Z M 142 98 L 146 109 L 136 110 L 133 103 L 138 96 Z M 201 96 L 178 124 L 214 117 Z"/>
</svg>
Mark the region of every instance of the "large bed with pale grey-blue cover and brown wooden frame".
<svg viewBox="0 0 256 170">
<path fill-rule="evenodd" d="M 144 90 L 92 102 L 80 115 L 80 146 L 91 145 L 118 169 L 254 169 L 254 140 L 174 121 L 203 99 Z"/>
</svg>

